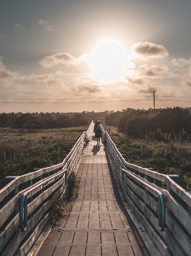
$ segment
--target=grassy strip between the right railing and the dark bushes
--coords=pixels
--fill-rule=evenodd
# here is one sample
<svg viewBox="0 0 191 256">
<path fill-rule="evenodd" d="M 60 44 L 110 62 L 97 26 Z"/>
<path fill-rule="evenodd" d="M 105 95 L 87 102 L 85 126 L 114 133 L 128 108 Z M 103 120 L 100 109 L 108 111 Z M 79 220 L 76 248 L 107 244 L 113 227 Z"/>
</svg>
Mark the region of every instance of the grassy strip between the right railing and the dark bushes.
<svg viewBox="0 0 191 256">
<path fill-rule="evenodd" d="M 128 161 L 140 164 L 144 168 L 154 168 L 164 174 L 176 174 L 187 182 L 191 191 L 191 144 L 181 141 L 151 141 L 132 139 L 117 131 L 116 127 L 104 126 L 116 143 L 127 155 Z"/>
</svg>

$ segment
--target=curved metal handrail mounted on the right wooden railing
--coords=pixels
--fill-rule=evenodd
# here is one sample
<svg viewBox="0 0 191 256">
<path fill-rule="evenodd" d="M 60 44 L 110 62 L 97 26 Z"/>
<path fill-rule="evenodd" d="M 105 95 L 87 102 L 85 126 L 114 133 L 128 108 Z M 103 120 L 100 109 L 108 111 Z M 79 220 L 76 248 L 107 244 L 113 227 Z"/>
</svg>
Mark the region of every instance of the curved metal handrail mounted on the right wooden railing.
<svg viewBox="0 0 191 256">
<path fill-rule="evenodd" d="M 121 178 L 122 184 L 124 184 L 124 173 L 127 173 L 127 175 L 130 175 L 131 177 L 133 177 L 134 180 L 136 180 L 139 183 L 142 183 L 144 186 L 146 186 L 147 188 L 153 190 L 158 194 L 158 228 L 160 231 L 164 231 L 165 223 L 166 223 L 166 211 L 165 211 L 165 198 L 162 192 L 150 186 L 149 184 L 147 184 L 146 182 L 139 179 L 138 177 L 136 177 L 135 175 L 133 175 L 132 173 L 130 173 L 129 171 L 123 168 L 122 168 L 122 178 Z"/>
</svg>

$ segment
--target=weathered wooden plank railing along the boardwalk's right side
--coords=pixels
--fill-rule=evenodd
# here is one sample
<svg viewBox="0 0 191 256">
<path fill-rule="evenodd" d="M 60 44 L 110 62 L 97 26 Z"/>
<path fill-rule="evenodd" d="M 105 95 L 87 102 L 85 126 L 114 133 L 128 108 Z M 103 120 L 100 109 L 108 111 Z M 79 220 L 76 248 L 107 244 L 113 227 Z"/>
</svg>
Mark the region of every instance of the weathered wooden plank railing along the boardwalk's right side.
<svg viewBox="0 0 191 256">
<path fill-rule="evenodd" d="M 190 256 L 191 194 L 186 191 L 186 183 L 178 175 L 164 175 L 152 168 L 128 162 L 112 136 L 103 128 L 102 131 L 117 184 L 130 206 L 130 212 L 133 211 L 136 220 L 143 225 L 144 230 L 140 233 L 145 231 L 150 250 L 156 248 L 152 255 Z M 155 190 L 160 191 L 165 199 L 163 220 L 161 202 Z M 163 227 L 159 227 L 158 221 L 164 220 Z"/>
</svg>

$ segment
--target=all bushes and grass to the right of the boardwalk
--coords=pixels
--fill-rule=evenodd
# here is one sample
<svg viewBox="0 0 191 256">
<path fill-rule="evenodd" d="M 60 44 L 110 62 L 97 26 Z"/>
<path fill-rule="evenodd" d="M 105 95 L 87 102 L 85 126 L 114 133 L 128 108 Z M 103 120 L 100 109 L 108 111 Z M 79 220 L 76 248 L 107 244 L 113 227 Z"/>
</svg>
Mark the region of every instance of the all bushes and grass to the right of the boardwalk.
<svg viewBox="0 0 191 256">
<path fill-rule="evenodd" d="M 179 175 L 191 191 L 191 108 L 127 108 L 109 113 L 105 123 L 128 161 Z"/>
</svg>

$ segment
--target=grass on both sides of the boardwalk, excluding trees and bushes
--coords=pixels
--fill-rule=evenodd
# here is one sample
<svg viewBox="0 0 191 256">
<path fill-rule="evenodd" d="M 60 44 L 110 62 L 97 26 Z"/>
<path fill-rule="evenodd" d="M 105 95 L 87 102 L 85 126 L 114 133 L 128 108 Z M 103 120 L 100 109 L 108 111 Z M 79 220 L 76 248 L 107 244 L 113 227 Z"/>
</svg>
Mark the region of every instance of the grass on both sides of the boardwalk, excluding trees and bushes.
<svg viewBox="0 0 191 256">
<path fill-rule="evenodd" d="M 57 164 L 87 128 L 0 128 L 0 180 L 8 175 L 22 175 L 34 168 Z M 180 175 L 191 191 L 191 144 L 132 139 L 118 132 L 114 126 L 103 124 L 103 128 L 110 132 L 130 162 L 154 168 L 160 173 Z"/>
</svg>

